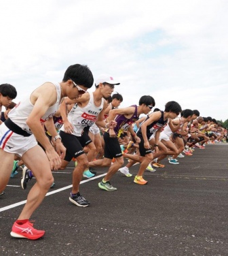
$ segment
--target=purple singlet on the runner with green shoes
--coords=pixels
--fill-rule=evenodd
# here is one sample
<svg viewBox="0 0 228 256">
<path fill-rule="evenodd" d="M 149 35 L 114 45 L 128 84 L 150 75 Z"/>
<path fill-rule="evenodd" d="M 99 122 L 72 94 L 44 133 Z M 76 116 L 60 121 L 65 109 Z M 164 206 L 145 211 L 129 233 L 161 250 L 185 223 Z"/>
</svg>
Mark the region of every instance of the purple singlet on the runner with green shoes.
<svg viewBox="0 0 228 256">
<path fill-rule="evenodd" d="M 116 127 L 114 128 L 115 134 L 117 135 L 117 137 L 120 136 L 120 134 L 122 133 L 122 131 L 125 131 L 128 129 L 128 127 L 130 127 L 130 125 L 132 125 L 132 123 L 136 122 L 138 120 L 138 115 L 137 115 L 137 106 L 136 105 L 132 105 L 131 107 L 134 107 L 134 114 L 132 115 L 131 118 L 126 118 L 123 114 L 118 114 L 115 117 L 115 121 L 117 122 Z"/>
</svg>

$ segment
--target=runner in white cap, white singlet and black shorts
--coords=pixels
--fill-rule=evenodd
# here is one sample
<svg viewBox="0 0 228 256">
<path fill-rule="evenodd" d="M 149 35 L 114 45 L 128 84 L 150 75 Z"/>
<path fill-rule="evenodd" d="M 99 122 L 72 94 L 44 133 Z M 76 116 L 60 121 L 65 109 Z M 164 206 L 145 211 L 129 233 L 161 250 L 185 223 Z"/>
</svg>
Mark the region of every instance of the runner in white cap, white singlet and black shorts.
<svg viewBox="0 0 228 256">
<path fill-rule="evenodd" d="M 86 207 L 90 204 L 79 193 L 79 184 L 83 176 L 84 170 L 88 165 L 88 161 L 94 159 L 96 148 L 90 139 L 88 133 L 83 132 L 85 127 L 90 127 L 93 123 L 104 128 L 112 128 L 115 122 L 104 121 L 104 111 L 107 108 L 107 101 L 104 97 L 109 97 L 114 90 L 115 84 L 119 82 L 113 80 L 111 76 L 99 76 L 96 80 L 96 90 L 94 93 L 85 93 L 75 102 L 68 116 L 65 111 L 64 102 L 61 106 L 61 115 L 64 125 L 60 129 L 62 143 L 67 148 L 66 157 L 62 160 L 61 170 L 64 170 L 71 159 L 74 157 L 77 161 L 77 166 L 73 171 L 73 188 L 69 200 L 76 206 Z M 92 144 L 95 150 L 91 150 L 87 157 L 83 151 L 83 147 Z"/>
</svg>

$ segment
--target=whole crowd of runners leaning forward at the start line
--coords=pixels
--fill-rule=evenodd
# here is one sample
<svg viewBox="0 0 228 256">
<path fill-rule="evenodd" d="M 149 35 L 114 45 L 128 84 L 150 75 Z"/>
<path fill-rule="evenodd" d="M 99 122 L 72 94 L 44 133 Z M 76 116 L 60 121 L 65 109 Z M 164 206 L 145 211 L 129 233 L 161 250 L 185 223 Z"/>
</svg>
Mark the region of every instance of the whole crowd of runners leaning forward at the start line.
<svg viewBox="0 0 228 256">
<path fill-rule="evenodd" d="M 79 184 L 83 177 L 95 176 L 98 167 L 108 169 L 98 187 L 117 191 L 111 178 L 117 172 L 131 177 L 132 165 L 138 164 L 134 183 L 146 185 L 145 170 L 165 167 L 166 157 L 169 164 L 177 165 L 178 157 L 192 156 L 195 147 L 203 150 L 206 144 L 227 142 L 227 129 L 210 116 L 200 116 L 198 110 L 182 110 L 176 101 L 164 102 L 164 110 L 153 109 L 151 95 L 141 95 L 121 108 L 123 96 L 113 94 L 118 80 L 100 75 L 94 91 L 88 93 L 93 84 L 90 69 L 75 64 L 68 67 L 62 82 L 45 82 L 19 103 L 13 101 L 14 86 L 0 85 L 0 108 L 5 106 L 0 125 L 0 195 L 7 196 L 5 187 L 18 168 L 22 189 L 36 178 L 11 236 L 36 240 L 45 234 L 29 219 L 55 186 L 52 170 L 64 170 L 71 161 L 75 169 L 69 200 L 86 207 L 90 202 L 79 193 Z"/>
</svg>

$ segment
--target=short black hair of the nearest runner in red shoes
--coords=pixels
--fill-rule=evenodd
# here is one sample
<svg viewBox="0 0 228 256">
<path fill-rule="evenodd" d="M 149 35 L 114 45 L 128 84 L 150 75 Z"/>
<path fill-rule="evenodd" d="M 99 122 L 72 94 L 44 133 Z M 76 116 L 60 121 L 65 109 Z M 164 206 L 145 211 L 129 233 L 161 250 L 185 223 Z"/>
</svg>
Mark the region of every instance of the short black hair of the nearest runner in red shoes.
<svg viewBox="0 0 228 256">
<path fill-rule="evenodd" d="M 94 77 L 87 65 L 75 64 L 71 65 L 65 71 L 62 82 L 67 82 L 67 80 L 73 80 L 75 84 L 85 86 L 86 88 L 91 88 L 94 84 Z"/>
</svg>

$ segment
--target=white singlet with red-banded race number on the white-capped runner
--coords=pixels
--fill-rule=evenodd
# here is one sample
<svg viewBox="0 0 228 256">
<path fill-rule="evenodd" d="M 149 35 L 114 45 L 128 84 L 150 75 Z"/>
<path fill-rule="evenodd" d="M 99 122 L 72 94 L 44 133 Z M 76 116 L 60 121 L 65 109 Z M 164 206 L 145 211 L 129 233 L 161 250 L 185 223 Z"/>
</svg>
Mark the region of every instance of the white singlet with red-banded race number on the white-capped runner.
<svg viewBox="0 0 228 256">
<path fill-rule="evenodd" d="M 87 126 L 91 126 L 96 122 L 98 114 L 103 109 L 104 98 L 101 99 L 100 106 L 94 105 L 94 94 L 90 93 L 90 100 L 88 104 L 81 108 L 77 103 L 69 112 L 67 118 L 73 125 L 73 135 L 81 136 L 83 129 Z M 64 131 L 64 125 L 62 125 L 61 131 Z"/>
</svg>

